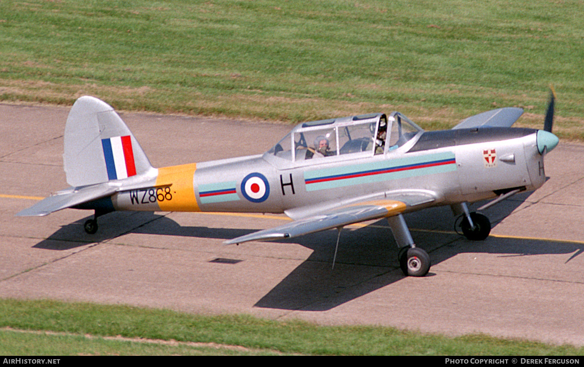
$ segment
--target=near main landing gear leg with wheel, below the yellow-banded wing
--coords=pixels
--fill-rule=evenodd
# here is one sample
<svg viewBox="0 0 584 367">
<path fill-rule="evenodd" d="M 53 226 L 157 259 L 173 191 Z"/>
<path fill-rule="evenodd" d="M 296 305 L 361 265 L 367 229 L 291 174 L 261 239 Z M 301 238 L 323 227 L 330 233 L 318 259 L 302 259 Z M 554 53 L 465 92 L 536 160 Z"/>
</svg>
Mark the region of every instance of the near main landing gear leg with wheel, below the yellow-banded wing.
<svg viewBox="0 0 584 367">
<path fill-rule="evenodd" d="M 398 260 L 404 275 L 423 277 L 430 270 L 430 256 L 426 251 L 416 247 L 409 233 L 404 216 L 401 214 L 387 218 L 391 232 L 399 247 Z"/>
</svg>

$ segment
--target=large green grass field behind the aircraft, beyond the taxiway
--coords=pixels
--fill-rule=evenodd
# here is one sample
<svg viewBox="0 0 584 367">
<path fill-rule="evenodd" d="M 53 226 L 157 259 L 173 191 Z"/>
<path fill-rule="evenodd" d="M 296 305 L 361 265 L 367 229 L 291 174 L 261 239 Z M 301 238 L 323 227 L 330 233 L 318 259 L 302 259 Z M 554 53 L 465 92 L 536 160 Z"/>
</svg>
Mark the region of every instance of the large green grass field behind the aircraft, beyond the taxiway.
<svg viewBox="0 0 584 367">
<path fill-rule="evenodd" d="M 581 1 L 0 2 L 0 100 L 298 122 L 400 110 L 425 128 L 520 106 L 584 138 Z"/>
</svg>

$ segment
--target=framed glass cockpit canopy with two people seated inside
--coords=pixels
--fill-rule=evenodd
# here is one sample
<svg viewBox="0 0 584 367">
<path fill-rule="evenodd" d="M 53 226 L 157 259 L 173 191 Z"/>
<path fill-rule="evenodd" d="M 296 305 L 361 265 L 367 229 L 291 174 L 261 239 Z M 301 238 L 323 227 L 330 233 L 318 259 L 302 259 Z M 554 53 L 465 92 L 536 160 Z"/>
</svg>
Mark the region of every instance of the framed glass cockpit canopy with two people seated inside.
<svg viewBox="0 0 584 367">
<path fill-rule="evenodd" d="M 422 131 L 399 112 L 310 121 L 294 127 L 265 155 L 292 162 L 373 156 L 399 148 Z"/>
</svg>

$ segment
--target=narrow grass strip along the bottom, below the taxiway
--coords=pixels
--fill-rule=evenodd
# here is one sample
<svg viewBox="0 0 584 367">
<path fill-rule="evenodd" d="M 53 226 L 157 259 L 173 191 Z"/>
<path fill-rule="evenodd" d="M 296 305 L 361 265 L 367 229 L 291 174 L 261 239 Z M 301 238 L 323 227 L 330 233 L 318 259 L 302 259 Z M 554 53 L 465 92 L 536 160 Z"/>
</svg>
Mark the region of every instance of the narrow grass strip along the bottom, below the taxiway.
<svg viewBox="0 0 584 367">
<path fill-rule="evenodd" d="M 0 300 L 0 328 L 0 355 L 584 355 L 584 348 L 486 335 L 453 338 L 48 300 Z"/>
</svg>

